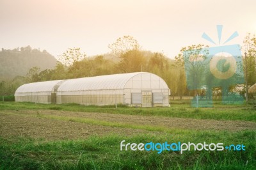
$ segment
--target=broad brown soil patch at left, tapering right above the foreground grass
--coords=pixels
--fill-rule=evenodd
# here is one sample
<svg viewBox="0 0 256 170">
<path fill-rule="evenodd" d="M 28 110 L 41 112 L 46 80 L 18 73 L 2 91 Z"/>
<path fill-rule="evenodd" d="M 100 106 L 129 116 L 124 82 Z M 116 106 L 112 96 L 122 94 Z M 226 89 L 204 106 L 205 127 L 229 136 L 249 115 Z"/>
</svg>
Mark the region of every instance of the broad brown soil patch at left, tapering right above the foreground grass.
<svg viewBox="0 0 256 170">
<path fill-rule="evenodd" d="M 7 112 L 7 111 L 6 111 Z M 8 111 L 15 112 L 15 111 Z M 36 114 L 36 112 L 30 114 Z M 36 118 L 33 116 L 22 116 L 17 114 L 3 114 L 0 111 L 0 136 L 13 137 L 23 136 L 34 139 L 84 139 L 89 135 L 108 135 L 108 134 L 145 134 L 146 130 L 104 127 L 87 123 L 72 121 L 49 120 L 46 118 Z M 17 112 L 15 112 L 17 113 Z"/>
</svg>

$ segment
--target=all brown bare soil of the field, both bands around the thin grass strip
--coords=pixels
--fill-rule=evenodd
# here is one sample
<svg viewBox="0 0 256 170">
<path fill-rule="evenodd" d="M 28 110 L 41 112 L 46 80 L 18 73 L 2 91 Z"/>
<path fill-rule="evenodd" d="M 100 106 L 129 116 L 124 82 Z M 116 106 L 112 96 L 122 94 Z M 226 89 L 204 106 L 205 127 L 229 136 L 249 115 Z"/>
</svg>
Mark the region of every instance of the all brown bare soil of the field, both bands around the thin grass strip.
<svg viewBox="0 0 256 170">
<path fill-rule="evenodd" d="M 160 116 L 139 116 L 109 114 L 99 112 L 70 112 L 52 110 L 0 111 L 0 136 L 24 135 L 44 139 L 79 139 L 88 135 L 145 134 L 146 130 L 118 128 L 74 121 L 50 120 L 36 115 L 68 116 L 88 118 L 131 125 L 151 125 L 158 127 L 193 130 L 256 130 L 256 123 L 250 121 L 195 120 L 189 118 L 166 118 Z M 154 132 L 150 132 L 151 134 Z M 157 132 L 156 132 L 157 133 Z"/>
</svg>

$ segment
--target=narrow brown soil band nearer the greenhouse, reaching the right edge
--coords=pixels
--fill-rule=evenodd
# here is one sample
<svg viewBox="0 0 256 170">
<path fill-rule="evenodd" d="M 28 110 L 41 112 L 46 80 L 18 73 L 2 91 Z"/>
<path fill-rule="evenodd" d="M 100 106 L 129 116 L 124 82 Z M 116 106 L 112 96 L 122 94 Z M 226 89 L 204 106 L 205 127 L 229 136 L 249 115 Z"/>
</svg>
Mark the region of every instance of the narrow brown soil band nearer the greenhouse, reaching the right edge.
<svg viewBox="0 0 256 170">
<path fill-rule="evenodd" d="M 69 112 L 40 110 L 39 114 L 51 114 L 56 116 L 74 116 L 80 118 L 93 118 L 95 120 L 131 123 L 137 125 L 155 125 L 170 128 L 194 129 L 194 130 L 256 130 L 256 123 L 251 121 L 227 121 L 227 120 L 197 120 L 191 118 L 168 118 L 161 116 L 141 116 L 127 114 L 110 114 L 102 112 Z M 35 114 L 29 111 L 26 114 Z"/>
</svg>

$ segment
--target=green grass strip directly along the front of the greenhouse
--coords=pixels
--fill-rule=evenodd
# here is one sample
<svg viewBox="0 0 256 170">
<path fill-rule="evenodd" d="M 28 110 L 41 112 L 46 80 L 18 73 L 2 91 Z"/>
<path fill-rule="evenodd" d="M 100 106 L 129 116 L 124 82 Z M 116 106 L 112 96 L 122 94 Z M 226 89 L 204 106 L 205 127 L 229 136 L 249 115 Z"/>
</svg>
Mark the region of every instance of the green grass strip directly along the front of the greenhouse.
<svg viewBox="0 0 256 170">
<path fill-rule="evenodd" d="M 84 106 L 78 104 L 33 104 L 4 102 L 0 104 L 0 110 L 20 110 L 20 109 L 50 109 L 58 111 L 75 112 L 108 112 L 113 114 L 132 114 L 166 116 L 172 118 L 193 118 L 209 120 L 244 120 L 256 122 L 256 109 L 247 105 L 214 105 L 211 108 L 193 108 L 189 104 L 173 104 L 171 107 L 118 107 L 115 106 Z"/>
</svg>

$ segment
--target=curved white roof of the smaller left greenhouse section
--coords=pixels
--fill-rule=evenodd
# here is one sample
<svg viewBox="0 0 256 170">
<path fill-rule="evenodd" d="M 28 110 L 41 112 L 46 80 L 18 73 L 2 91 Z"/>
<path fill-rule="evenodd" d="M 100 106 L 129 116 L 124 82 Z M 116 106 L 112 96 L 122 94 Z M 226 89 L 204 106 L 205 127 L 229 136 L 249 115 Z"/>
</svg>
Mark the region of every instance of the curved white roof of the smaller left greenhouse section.
<svg viewBox="0 0 256 170">
<path fill-rule="evenodd" d="M 61 82 L 58 81 L 44 81 L 44 82 L 32 82 L 20 86 L 15 93 L 35 93 L 35 92 L 51 92 L 54 86 Z"/>
</svg>

